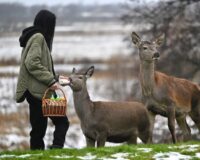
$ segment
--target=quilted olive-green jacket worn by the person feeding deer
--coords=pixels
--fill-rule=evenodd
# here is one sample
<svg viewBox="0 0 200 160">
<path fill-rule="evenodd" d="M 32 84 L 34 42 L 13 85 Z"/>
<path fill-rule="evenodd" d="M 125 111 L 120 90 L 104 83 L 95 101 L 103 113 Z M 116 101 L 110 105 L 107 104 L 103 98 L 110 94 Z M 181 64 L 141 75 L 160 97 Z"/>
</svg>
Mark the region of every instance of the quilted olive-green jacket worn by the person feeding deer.
<svg viewBox="0 0 200 160">
<path fill-rule="evenodd" d="M 52 67 L 44 36 L 41 33 L 34 34 L 22 50 L 16 101 L 24 101 L 27 90 L 34 97 L 42 99 L 45 90 L 56 81 Z"/>
</svg>

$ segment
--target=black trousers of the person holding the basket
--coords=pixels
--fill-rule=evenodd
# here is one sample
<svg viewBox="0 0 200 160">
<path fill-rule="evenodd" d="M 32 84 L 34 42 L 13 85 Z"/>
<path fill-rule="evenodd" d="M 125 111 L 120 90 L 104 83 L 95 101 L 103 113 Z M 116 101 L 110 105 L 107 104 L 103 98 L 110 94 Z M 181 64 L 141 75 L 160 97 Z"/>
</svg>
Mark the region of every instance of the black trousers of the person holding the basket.
<svg viewBox="0 0 200 160">
<path fill-rule="evenodd" d="M 42 114 L 42 101 L 33 97 L 30 93 L 26 94 L 26 99 L 30 109 L 30 148 L 45 149 L 44 136 L 47 129 L 47 117 Z M 62 148 L 65 142 L 66 132 L 69 128 L 67 117 L 49 117 L 55 125 L 53 145 Z"/>
</svg>

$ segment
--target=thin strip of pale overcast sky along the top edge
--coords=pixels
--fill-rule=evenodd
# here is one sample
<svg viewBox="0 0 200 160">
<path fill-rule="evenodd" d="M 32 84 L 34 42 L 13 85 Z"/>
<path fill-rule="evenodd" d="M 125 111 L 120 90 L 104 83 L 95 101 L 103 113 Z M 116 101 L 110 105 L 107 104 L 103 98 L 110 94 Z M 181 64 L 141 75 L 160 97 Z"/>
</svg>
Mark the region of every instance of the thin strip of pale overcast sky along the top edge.
<svg viewBox="0 0 200 160">
<path fill-rule="evenodd" d="M 128 0 L 0 0 L 0 3 L 13 3 L 18 2 L 24 5 L 34 5 L 34 4 L 69 4 L 69 3 L 82 3 L 82 4 L 109 4 L 109 3 L 123 3 Z"/>
</svg>

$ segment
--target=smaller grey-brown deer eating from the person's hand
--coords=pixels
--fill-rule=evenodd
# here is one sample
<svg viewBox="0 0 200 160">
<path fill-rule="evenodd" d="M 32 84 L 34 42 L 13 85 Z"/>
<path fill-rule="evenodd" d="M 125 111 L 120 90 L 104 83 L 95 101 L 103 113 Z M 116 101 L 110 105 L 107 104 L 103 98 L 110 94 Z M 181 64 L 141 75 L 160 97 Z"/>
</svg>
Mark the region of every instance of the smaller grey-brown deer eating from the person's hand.
<svg viewBox="0 0 200 160">
<path fill-rule="evenodd" d="M 76 113 L 88 147 L 104 146 L 106 141 L 130 144 L 139 137 L 149 142 L 150 121 L 146 107 L 139 102 L 93 102 L 88 94 L 86 81 L 92 76 L 94 67 L 85 73 L 73 69 L 68 84 L 73 90 Z"/>
</svg>

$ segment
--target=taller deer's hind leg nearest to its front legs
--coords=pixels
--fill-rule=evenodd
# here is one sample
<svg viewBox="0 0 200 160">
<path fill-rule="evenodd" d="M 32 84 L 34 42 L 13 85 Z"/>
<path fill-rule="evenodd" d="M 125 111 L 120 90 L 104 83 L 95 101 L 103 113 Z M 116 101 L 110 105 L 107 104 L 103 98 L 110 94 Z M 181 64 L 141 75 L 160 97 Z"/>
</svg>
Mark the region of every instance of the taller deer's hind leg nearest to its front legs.
<svg viewBox="0 0 200 160">
<path fill-rule="evenodd" d="M 182 131 L 184 141 L 190 140 L 191 139 L 191 130 L 186 122 L 186 115 L 183 114 L 183 115 L 176 117 L 176 121 Z"/>
</svg>

